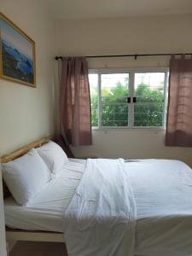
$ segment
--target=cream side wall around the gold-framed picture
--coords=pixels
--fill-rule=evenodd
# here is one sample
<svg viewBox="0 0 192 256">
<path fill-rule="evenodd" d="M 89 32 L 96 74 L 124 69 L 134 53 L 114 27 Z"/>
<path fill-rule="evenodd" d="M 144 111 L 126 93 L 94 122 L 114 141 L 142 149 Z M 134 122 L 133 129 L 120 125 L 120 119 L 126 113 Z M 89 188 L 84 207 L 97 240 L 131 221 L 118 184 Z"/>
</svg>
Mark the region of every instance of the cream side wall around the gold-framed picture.
<svg viewBox="0 0 192 256">
<path fill-rule="evenodd" d="M 0 11 L 36 43 L 37 88 L 0 80 L 0 154 L 54 132 L 54 21 L 38 0 L 0 0 Z"/>
</svg>

